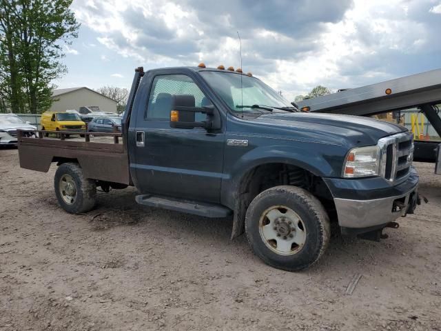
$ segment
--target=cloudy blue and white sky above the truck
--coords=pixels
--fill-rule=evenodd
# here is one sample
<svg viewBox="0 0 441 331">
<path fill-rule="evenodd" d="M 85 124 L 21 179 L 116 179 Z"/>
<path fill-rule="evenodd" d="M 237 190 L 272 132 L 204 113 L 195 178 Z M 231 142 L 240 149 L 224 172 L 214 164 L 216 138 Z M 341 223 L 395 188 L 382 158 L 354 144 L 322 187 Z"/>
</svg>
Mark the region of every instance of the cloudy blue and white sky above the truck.
<svg viewBox="0 0 441 331">
<path fill-rule="evenodd" d="M 74 0 L 60 88 L 130 88 L 134 68 L 240 64 L 293 100 L 441 68 L 441 0 Z"/>
</svg>

